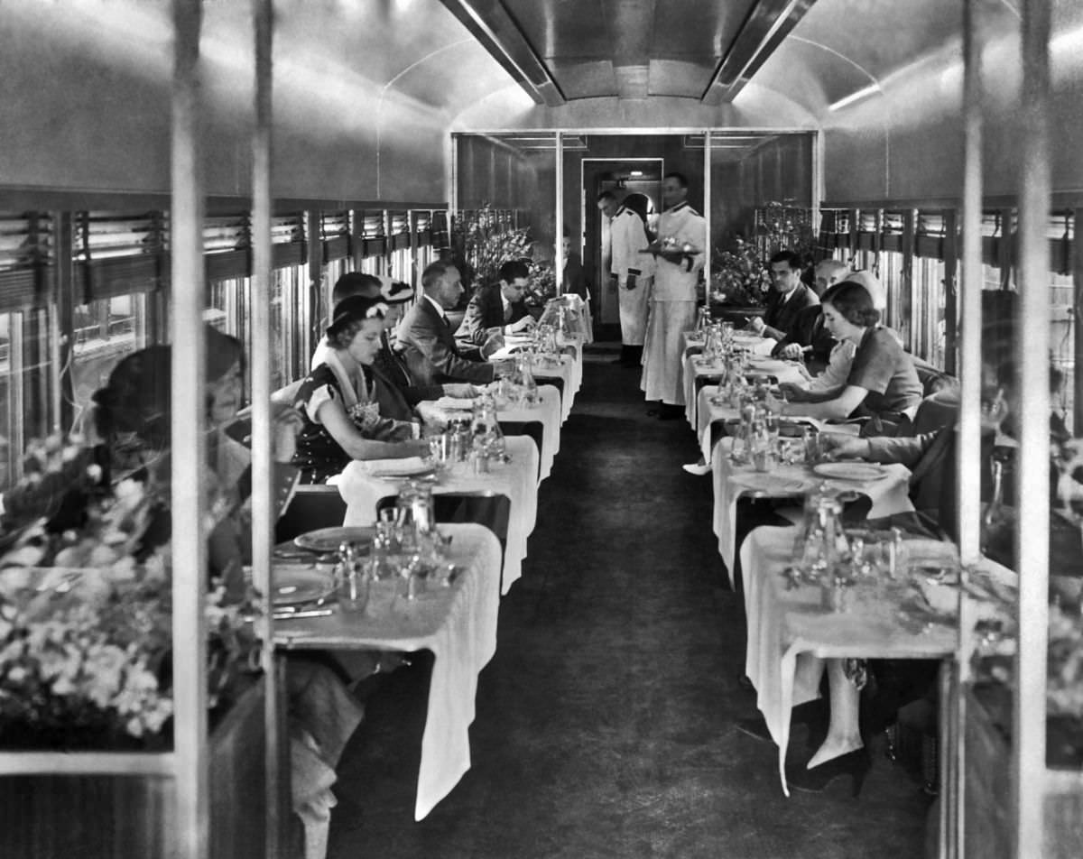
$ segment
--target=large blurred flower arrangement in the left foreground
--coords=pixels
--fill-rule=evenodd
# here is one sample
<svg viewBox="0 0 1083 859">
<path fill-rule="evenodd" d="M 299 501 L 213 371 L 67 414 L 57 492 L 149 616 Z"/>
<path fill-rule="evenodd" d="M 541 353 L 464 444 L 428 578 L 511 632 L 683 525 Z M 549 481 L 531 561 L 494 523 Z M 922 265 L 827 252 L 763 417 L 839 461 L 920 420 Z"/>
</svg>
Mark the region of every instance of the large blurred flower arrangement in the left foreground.
<svg viewBox="0 0 1083 859">
<path fill-rule="evenodd" d="M 48 509 L 0 559 L 0 743 L 9 747 L 167 743 L 170 556 L 168 544 L 146 546 L 161 507 L 141 481 L 102 485 L 91 458 L 78 439 L 34 443 L 13 493 L 40 490 Z M 49 484 L 73 477 L 78 510 L 60 516 Z M 58 506 L 70 508 L 70 498 Z M 252 611 L 231 604 L 221 586 L 207 599 L 212 706 L 252 651 Z"/>
</svg>

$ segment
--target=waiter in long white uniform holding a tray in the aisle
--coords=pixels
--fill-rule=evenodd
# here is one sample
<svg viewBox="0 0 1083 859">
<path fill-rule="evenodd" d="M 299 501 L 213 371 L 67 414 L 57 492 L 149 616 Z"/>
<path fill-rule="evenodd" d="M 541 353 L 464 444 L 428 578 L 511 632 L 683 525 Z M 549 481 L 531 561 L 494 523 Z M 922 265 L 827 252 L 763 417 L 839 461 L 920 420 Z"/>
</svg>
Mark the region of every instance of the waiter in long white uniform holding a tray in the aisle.
<svg viewBox="0 0 1083 859">
<path fill-rule="evenodd" d="M 684 414 L 680 336 L 695 326 L 707 223 L 688 205 L 688 179 L 682 173 L 666 174 L 662 199 L 666 208 L 658 217 L 658 250 L 640 387 L 648 402 L 661 402 L 657 416 L 673 420 Z"/>
</svg>

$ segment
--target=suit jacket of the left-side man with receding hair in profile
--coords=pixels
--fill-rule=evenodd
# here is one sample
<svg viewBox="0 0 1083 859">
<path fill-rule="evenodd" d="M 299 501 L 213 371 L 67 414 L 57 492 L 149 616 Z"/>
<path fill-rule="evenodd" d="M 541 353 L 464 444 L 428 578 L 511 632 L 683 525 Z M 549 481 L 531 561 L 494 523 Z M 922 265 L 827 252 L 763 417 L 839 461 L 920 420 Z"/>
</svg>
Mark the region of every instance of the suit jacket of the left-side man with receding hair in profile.
<svg viewBox="0 0 1083 859">
<path fill-rule="evenodd" d="M 403 317 L 399 343 L 416 385 L 487 385 L 495 377 L 495 367 L 484 361 L 481 349 L 456 342 L 428 298 L 421 298 Z"/>
</svg>

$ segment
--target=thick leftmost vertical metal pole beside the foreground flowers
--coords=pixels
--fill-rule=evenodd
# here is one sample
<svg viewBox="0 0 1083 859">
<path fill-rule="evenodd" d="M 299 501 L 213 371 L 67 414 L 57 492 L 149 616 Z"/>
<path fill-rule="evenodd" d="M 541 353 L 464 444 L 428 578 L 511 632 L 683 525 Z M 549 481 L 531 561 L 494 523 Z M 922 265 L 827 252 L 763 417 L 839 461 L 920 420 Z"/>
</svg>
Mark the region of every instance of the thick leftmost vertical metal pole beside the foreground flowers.
<svg viewBox="0 0 1083 859">
<path fill-rule="evenodd" d="M 172 448 L 173 746 L 177 855 L 205 859 L 209 848 L 207 760 L 207 535 L 204 471 L 203 177 L 199 166 L 200 0 L 173 0 L 172 94 Z"/>
</svg>

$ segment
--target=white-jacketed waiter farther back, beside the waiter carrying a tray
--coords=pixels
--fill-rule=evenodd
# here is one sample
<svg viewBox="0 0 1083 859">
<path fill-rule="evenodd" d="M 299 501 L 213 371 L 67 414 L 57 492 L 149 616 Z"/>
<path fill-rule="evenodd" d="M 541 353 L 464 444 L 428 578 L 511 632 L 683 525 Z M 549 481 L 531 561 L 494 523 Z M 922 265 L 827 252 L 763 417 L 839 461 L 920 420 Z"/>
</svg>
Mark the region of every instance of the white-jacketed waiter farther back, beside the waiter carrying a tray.
<svg viewBox="0 0 1083 859">
<path fill-rule="evenodd" d="M 647 302 L 654 275 L 654 258 L 641 252 L 651 243 L 647 234 L 647 203 L 642 194 L 629 194 L 621 205 L 608 191 L 598 197 L 598 208 L 610 219 L 610 275 L 616 279 L 619 363 L 625 367 L 638 367 L 642 361 Z"/>
</svg>

